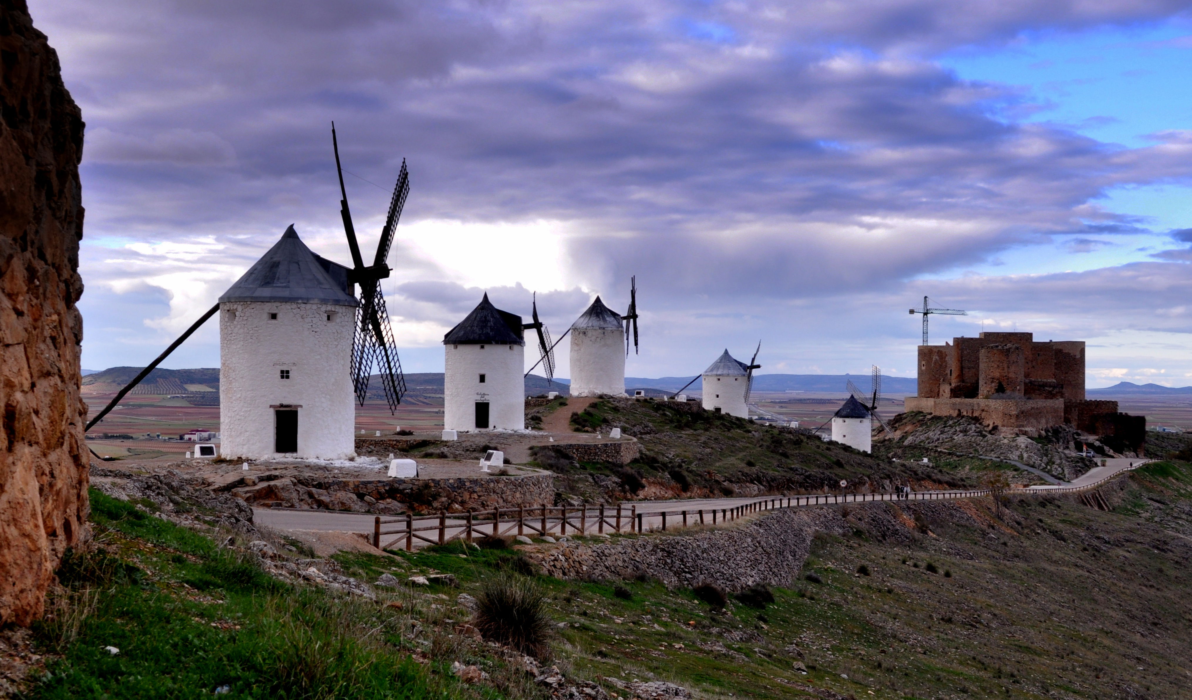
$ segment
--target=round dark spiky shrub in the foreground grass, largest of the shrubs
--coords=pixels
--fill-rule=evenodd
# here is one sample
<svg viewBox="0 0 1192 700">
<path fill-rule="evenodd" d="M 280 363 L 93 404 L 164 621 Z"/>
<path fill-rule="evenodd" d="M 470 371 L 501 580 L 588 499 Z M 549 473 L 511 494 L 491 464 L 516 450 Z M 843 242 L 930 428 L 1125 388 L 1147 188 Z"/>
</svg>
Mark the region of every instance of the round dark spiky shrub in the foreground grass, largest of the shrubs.
<svg viewBox="0 0 1192 700">
<path fill-rule="evenodd" d="M 516 576 L 484 583 L 476 595 L 474 624 L 486 639 L 532 656 L 546 651 L 551 632 L 542 591 L 532 581 Z"/>
</svg>

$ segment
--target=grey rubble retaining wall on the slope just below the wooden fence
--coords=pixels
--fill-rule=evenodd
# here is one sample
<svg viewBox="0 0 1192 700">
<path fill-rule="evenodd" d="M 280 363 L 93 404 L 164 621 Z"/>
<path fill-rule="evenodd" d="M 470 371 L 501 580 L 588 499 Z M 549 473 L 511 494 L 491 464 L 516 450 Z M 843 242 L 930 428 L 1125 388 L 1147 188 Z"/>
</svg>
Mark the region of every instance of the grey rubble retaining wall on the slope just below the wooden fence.
<svg viewBox="0 0 1192 700">
<path fill-rule="evenodd" d="M 608 581 L 647 574 L 668 588 L 708 582 L 732 593 L 757 583 L 789 588 L 799 578 L 818 532 L 846 532 L 840 510 L 778 510 L 726 529 L 626 538 L 595 546 L 564 543 L 528 556 L 557 578 Z"/>
</svg>

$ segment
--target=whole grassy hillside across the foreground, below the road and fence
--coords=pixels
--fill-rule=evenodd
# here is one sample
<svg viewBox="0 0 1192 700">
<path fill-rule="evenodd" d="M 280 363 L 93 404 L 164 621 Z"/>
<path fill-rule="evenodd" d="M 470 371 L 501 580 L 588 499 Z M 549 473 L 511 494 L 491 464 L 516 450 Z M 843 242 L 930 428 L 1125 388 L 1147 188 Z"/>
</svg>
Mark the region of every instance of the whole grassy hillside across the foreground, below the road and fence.
<svg viewBox="0 0 1192 700">
<path fill-rule="evenodd" d="M 988 500 L 900 504 L 890 529 L 873 509 L 892 504 L 850 507 L 852 532 L 819 537 L 797 587 L 718 609 L 651 581 L 527 577 L 515 550 L 458 544 L 337 556 L 362 581 L 458 581 L 377 588 L 372 601 L 275 581 L 242 541 L 217 545 L 225 532 L 93 491 L 95 545 L 60 572 L 29 696 L 547 698 L 519 655 L 466 626 L 460 594 L 513 576 L 546 594 L 544 668 L 622 698 L 633 693 L 617 683 L 634 680 L 702 698 L 1185 698 L 1190 495 L 1192 466 L 1168 460 L 1106 489 L 1112 512 L 1075 498 L 1000 513 Z M 488 679 L 460 682 L 457 661 Z"/>
</svg>

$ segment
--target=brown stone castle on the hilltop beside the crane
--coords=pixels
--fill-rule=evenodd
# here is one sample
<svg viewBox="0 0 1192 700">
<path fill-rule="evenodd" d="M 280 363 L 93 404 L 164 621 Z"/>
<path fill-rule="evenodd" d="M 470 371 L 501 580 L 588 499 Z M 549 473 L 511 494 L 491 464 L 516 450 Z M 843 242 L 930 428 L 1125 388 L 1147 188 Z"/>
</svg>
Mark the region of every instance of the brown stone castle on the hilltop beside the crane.
<svg viewBox="0 0 1192 700">
<path fill-rule="evenodd" d="M 1084 341 L 1041 342 L 1031 333 L 920 345 L 919 395 L 906 398 L 906 410 L 973 416 L 1026 435 L 1067 423 L 1094 435 L 1129 433 L 1129 442 L 1141 444 L 1146 429 L 1146 419 L 1118 413 L 1116 401 L 1085 398 Z"/>
</svg>

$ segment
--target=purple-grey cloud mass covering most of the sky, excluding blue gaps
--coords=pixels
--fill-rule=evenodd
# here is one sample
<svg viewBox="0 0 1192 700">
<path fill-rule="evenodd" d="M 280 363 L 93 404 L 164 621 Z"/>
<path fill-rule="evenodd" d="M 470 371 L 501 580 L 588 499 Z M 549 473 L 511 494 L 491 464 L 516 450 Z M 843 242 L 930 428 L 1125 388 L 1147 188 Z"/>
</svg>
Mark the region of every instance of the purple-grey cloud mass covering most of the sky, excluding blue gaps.
<svg viewBox="0 0 1192 700">
<path fill-rule="evenodd" d="M 404 223 L 570 222 L 572 271 L 617 289 L 639 274 L 671 314 L 654 321 L 673 329 L 706 328 L 695 308 L 787 312 L 793 298 L 907 293 L 917 275 L 1051 236 L 1081 235 L 1092 249 L 1144 230 L 1089 203 L 1116 185 L 1186 178 L 1188 134 L 1125 149 L 1018 123 L 1006 116 L 1037 109 L 1029 95 L 931 58 L 1187 6 L 114 0 L 32 11 L 88 122 L 88 236 L 211 242 L 186 260 L 226 268 L 210 298 L 290 222 L 346 260 L 335 119 L 358 223 L 375 223 L 405 156 Z M 150 277 L 124 256 L 164 262 L 160 252 L 91 255 L 88 279 L 113 289 L 122 274 Z M 434 279 L 441 261 L 391 262 L 395 314 L 449 326 L 479 298 L 479 287 L 403 281 Z M 569 314 L 588 297 L 552 293 L 567 296 L 552 308 Z M 524 289 L 493 301 L 502 295 L 528 310 Z"/>
</svg>

